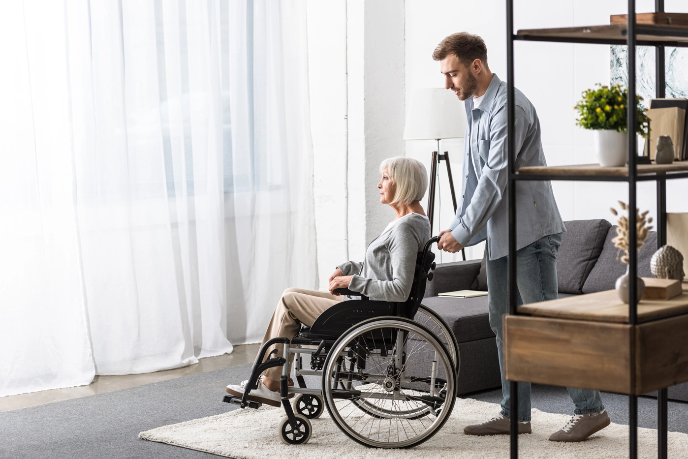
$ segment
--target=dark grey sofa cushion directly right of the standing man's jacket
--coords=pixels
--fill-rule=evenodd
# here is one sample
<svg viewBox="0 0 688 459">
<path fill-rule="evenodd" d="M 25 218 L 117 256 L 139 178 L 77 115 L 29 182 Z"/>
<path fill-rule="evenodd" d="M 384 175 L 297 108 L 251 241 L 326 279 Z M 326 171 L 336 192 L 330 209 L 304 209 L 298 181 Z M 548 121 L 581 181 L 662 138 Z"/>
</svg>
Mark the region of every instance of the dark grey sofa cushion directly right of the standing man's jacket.
<svg viewBox="0 0 688 459">
<path fill-rule="evenodd" d="M 557 255 L 559 292 L 580 295 L 612 224 L 607 220 L 572 220 L 564 224 L 566 232 L 561 235 Z"/>
</svg>

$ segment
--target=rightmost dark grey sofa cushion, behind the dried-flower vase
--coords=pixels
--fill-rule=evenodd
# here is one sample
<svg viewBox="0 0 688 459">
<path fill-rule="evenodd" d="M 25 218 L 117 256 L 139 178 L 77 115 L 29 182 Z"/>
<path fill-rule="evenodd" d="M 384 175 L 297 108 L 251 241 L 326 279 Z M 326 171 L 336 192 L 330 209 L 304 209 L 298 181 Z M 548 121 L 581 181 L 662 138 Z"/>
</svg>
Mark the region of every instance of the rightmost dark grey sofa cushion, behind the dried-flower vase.
<svg viewBox="0 0 688 459">
<path fill-rule="evenodd" d="M 617 258 L 619 249 L 614 247 L 612 239 L 616 237 L 616 226 L 609 228 L 605 238 L 602 253 L 597 259 L 588 279 L 583 285 L 583 293 L 601 292 L 602 290 L 612 290 L 616 279 L 626 273 L 626 264 L 621 263 L 621 257 Z M 645 245 L 638 252 L 638 276 L 654 277 L 649 270 L 649 259 L 657 250 L 657 233 L 650 231 L 645 239 Z"/>
</svg>

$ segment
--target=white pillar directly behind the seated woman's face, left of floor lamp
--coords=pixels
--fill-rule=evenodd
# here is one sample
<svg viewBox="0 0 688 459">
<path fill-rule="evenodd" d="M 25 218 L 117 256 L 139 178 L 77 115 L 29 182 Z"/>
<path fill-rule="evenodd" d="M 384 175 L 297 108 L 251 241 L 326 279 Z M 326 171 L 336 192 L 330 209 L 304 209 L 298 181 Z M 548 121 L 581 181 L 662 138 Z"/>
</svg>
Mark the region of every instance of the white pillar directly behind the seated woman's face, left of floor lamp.
<svg viewBox="0 0 688 459">
<path fill-rule="evenodd" d="M 380 204 L 380 162 L 403 156 L 405 5 L 347 2 L 349 253 L 362 259 L 394 211 Z M 365 224 L 362 224 L 365 222 Z"/>
</svg>

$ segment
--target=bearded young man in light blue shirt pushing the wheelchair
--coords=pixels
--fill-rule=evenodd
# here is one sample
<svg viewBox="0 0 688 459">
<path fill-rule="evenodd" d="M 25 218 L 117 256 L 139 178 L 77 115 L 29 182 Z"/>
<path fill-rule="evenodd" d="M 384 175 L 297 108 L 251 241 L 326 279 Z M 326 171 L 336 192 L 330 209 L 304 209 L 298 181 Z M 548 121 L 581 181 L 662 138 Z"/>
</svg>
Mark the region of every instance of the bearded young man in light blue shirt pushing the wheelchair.
<svg viewBox="0 0 688 459">
<path fill-rule="evenodd" d="M 464 100 L 468 126 L 464 142 L 463 186 L 456 215 L 440 232 L 438 247 L 455 253 L 486 240 L 490 325 L 497 335 L 502 370 L 502 412 L 469 435 L 509 433 L 509 383 L 504 381 L 502 316 L 508 312 L 508 207 L 506 83 L 490 72 L 487 47 L 466 32 L 442 40 L 433 59 L 440 61 L 444 87 Z M 516 164 L 546 165 L 535 107 L 515 89 Z M 550 182 L 517 182 L 517 288 L 519 304 L 557 298 L 557 250 L 566 231 Z M 530 383 L 518 385 L 519 434 L 530 433 Z M 580 441 L 610 424 L 599 391 L 568 388 L 575 405 L 571 420 L 550 436 L 552 441 Z"/>
</svg>

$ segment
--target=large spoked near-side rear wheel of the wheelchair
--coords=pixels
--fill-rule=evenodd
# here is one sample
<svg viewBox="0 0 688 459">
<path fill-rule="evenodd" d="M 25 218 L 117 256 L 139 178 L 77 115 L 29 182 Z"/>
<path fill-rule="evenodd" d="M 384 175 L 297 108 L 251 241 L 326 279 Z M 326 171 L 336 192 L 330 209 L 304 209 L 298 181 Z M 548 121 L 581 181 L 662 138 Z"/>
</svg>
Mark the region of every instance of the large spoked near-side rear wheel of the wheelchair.
<svg viewBox="0 0 688 459">
<path fill-rule="evenodd" d="M 455 403 L 449 352 L 424 325 L 376 317 L 334 343 L 323 398 L 334 423 L 368 447 L 409 448 L 447 422 Z"/>
</svg>

